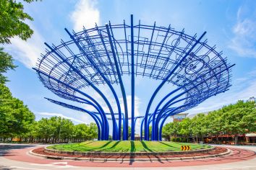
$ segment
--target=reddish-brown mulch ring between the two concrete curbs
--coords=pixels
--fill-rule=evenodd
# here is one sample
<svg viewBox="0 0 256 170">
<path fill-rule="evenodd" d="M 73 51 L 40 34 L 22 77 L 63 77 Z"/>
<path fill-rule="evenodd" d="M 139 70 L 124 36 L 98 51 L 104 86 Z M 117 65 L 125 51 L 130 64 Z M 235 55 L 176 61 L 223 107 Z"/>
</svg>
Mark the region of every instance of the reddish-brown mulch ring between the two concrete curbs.
<svg viewBox="0 0 256 170">
<path fill-rule="evenodd" d="M 75 156 L 66 153 L 46 153 L 44 148 L 35 148 L 32 152 L 38 153 L 40 155 L 46 156 L 63 156 L 63 157 L 75 157 L 75 158 L 179 158 L 179 157 L 194 157 L 194 156 L 209 156 L 216 155 L 218 153 L 226 152 L 226 148 L 216 147 L 213 151 L 208 151 L 206 153 L 191 153 L 191 154 L 177 154 L 177 155 L 166 155 L 166 156 Z"/>
</svg>

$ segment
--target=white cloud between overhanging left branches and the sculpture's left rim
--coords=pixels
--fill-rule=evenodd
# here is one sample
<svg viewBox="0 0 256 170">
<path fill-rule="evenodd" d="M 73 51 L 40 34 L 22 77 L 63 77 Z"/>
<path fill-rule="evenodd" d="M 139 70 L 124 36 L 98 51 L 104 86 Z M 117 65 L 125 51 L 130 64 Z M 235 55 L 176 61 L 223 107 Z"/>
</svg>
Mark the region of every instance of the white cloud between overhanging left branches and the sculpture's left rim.
<svg viewBox="0 0 256 170">
<path fill-rule="evenodd" d="M 14 59 L 23 63 L 27 68 L 35 66 L 40 53 L 43 52 L 43 37 L 38 33 L 35 27 L 32 27 L 34 34 L 27 41 L 21 40 L 19 37 L 12 38 L 10 45 L 5 45 L 5 49 L 12 55 Z"/>
</svg>

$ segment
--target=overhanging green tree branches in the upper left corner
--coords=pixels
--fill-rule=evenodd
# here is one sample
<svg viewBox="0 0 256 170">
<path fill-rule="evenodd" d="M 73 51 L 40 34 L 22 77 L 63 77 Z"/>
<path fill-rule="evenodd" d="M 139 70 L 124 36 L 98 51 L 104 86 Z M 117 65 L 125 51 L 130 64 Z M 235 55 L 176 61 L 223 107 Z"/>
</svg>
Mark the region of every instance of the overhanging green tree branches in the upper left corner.
<svg viewBox="0 0 256 170">
<path fill-rule="evenodd" d="M 30 3 L 33 0 L 25 0 Z M 33 21 L 29 14 L 23 11 L 22 2 L 14 0 L 0 1 L 0 44 L 11 43 L 12 37 L 20 37 L 22 40 L 27 40 L 33 35 L 33 30 L 26 24 L 26 20 Z M 4 48 L 0 47 L 0 83 L 4 84 L 7 77 L 2 73 L 6 73 L 9 69 L 14 69 L 13 58 L 8 53 L 4 52 Z"/>
</svg>

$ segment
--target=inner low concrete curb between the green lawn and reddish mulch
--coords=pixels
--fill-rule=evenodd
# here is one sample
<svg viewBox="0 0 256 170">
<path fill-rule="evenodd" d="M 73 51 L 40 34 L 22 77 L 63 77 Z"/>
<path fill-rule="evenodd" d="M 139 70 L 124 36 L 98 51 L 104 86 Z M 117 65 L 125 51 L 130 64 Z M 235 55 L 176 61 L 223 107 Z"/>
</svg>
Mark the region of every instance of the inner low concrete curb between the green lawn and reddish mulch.
<svg viewBox="0 0 256 170">
<path fill-rule="evenodd" d="M 80 152 L 80 151 L 58 151 L 55 149 L 48 149 L 48 146 L 44 147 L 46 153 L 59 153 L 59 154 L 68 154 L 73 156 L 169 156 L 169 155 L 183 155 L 183 154 L 192 154 L 192 153 L 207 153 L 216 149 L 207 148 L 200 149 L 195 151 L 167 151 L 167 152 Z"/>
</svg>

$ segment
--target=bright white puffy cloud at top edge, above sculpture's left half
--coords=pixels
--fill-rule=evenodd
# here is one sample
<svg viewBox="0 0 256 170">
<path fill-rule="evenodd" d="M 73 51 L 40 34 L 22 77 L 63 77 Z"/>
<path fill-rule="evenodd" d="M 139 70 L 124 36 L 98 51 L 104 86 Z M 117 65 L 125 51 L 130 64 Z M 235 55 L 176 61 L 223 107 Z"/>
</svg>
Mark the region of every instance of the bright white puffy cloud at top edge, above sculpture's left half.
<svg viewBox="0 0 256 170">
<path fill-rule="evenodd" d="M 100 12 L 97 9 L 98 1 L 96 0 L 80 0 L 75 5 L 74 12 L 70 15 L 74 23 L 74 30 L 82 30 L 86 28 L 95 27 L 95 23 L 100 22 Z"/>
</svg>

